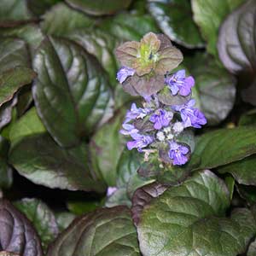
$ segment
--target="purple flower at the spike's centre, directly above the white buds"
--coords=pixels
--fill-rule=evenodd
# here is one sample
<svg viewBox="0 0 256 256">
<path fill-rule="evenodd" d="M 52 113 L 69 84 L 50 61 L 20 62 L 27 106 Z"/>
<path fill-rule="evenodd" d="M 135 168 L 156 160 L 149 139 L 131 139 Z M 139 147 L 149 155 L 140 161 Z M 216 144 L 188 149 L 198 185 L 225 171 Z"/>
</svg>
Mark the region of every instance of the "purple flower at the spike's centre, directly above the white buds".
<svg viewBox="0 0 256 256">
<path fill-rule="evenodd" d="M 170 124 L 173 117 L 172 112 L 167 112 L 165 109 L 159 108 L 152 114 L 149 120 L 154 123 L 154 129 L 160 130 Z"/>
</svg>

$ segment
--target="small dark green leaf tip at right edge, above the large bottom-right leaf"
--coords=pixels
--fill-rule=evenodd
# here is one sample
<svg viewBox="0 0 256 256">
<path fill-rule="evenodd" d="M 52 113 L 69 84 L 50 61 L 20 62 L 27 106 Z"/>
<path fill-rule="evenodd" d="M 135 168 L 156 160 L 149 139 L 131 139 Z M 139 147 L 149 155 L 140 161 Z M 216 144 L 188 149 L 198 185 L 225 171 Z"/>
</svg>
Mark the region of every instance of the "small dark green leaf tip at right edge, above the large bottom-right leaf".
<svg viewBox="0 0 256 256">
<path fill-rule="evenodd" d="M 243 160 L 218 168 L 219 173 L 230 173 L 240 184 L 256 186 L 256 156 L 253 154 Z"/>
</svg>

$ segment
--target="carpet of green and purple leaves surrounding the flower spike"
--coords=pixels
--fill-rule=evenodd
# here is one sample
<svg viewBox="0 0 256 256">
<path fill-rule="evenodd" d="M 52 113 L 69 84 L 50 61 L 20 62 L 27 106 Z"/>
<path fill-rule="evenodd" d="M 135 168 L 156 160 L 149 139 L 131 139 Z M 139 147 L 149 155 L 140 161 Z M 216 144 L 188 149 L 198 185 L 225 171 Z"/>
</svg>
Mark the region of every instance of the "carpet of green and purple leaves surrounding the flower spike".
<svg viewBox="0 0 256 256">
<path fill-rule="evenodd" d="M 255 27 L 255 0 L 0 1 L 0 255 L 256 255 Z M 162 90 L 139 80 L 151 59 L 137 87 L 116 79 L 116 49 L 148 32 L 207 119 L 182 165 L 119 133 Z"/>
</svg>

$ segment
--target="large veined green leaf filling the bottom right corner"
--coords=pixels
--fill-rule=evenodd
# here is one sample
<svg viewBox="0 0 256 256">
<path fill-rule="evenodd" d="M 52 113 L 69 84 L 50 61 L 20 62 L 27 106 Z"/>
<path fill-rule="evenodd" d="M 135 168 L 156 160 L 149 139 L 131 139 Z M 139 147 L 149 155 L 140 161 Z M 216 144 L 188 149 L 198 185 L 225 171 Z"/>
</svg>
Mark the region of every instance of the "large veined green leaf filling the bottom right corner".
<svg viewBox="0 0 256 256">
<path fill-rule="evenodd" d="M 230 195 L 212 172 L 197 173 L 144 207 L 137 224 L 143 255 L 234 256 L 255 235 L 252 212 L 236 209 L 224 218 Z"/>
</svg>

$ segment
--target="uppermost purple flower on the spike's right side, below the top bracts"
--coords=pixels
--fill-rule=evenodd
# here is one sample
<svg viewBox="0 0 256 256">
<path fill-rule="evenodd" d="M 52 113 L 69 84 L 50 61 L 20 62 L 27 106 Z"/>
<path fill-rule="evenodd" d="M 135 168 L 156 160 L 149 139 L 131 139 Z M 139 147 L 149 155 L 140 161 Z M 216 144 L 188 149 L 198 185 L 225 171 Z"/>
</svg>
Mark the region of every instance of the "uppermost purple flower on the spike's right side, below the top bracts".
<svg viewBox="0 0 256 256">
<path fill-rule="evenodd" d="M 191 88 L 195 84 L 193 77 L 186 78 L 185 70 L 179 70 L 177 73 L 172 74 L 171 77 L 166 78 L 166 84 L 172 91 L 172 95 L 188 96 L 191 93 Z"/>
</svg>

